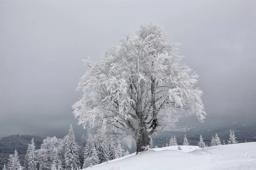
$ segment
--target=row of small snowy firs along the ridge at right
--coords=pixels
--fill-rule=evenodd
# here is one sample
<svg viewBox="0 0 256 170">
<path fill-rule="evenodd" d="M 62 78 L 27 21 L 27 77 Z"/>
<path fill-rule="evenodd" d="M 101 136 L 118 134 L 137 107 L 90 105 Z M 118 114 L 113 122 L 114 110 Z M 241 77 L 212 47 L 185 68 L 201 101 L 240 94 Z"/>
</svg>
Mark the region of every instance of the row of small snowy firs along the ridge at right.
<svg viewBox="0 0 256 170">
<path fill-rule="evenodd" d="M 235 132 L 234 132 L 234 130 L 230 129 L 230 139 L 228 140 L 227 144 L 236 144 L 236 143 L 237 143 L 237 141 L 236 141 Z M 217 146 L 220 144 L 221 144 L 221 139 L 218 137 L 218 134 L 215 133 L 215 136 L 212 136 L 211 146 Z M 224 140 L 223 140 L 223 144 L 226 144 Z M 175 138 L 175 136 L 171 137 L 169 144 L 167 144 L 167 142 L 166 142 L 166 146 L 176 146 L 176 145 L 178 145 L 178 144 L 177 144 L 177 139 Z M 185 145 L 185 146 L 189 145 L 186 135 L 184 136 L 183 145 Z M 199 136 L 198 146 L 199 147 L 207 147 L 207 145 L 204 143 L 204 139 L 203 139 L 202 135 Z"/>
</svg>

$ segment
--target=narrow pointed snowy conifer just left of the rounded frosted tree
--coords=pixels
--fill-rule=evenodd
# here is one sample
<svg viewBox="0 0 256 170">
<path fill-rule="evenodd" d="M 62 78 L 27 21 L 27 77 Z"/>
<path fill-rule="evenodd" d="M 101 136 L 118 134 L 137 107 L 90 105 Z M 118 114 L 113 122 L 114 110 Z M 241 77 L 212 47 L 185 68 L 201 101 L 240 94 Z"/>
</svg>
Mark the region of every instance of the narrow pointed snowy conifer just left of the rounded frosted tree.
<svg viewBox="0 0 256 170">
<path fill-rule="evenodd" d="M 35 154 L 35 143 L 34 138 L 32 138 L 31 144 L 27 149 L 27 153 L 25 156 L 24 169 L 25 170 L 38 170 L 37 168 L 37 157 Z"/>
</svg>

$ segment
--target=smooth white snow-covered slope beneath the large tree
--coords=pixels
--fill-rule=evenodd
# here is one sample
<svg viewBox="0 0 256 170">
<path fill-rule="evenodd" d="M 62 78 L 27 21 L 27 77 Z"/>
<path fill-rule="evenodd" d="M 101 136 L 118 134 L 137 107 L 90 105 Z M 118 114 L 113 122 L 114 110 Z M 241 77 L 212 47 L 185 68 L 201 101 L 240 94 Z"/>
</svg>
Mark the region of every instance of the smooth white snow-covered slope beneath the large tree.
<svg viewBox="0 0 256 170">
<path fill-rule="evenodd" d="M 256 170 L 256 142 L 215 147 L 157 148 L 90 167 L 90 170 Z"/>
</svg>

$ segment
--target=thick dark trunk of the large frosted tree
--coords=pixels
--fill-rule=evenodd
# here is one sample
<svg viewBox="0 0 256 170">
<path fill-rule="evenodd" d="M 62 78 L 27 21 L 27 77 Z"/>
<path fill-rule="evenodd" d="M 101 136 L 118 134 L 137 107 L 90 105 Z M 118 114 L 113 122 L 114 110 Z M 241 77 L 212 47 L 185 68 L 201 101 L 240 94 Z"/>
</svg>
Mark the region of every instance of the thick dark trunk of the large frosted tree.
<svg viewBox="0 0 256 170">
<path fill-rule="evenodd" d="M 151 147 L 151 138 L 150 134 L 147 131 L 145 122 L 140 121 L 140 127 L 137 132 L 137 153 L 148 150 L 148 147 Z M 136 154 L 137 154 L 136 153 Z"/>
</svg>

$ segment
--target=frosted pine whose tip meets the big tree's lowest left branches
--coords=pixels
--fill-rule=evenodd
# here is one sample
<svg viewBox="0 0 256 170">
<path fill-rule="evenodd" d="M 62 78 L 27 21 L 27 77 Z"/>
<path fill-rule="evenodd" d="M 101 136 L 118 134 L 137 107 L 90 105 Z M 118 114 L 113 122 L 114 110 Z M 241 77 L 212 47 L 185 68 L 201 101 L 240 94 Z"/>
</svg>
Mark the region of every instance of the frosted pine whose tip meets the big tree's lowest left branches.
<svg viewBox="0 0 256 170">
<path fill-rule="evenodd" d="M 101 128 L 99 133 L 97 133 L 95 144 L 100 163 L 108 161 L 110 159 L 110 153 L 108 150 L 108 142 L 104 128 Z"/>
</svg>

